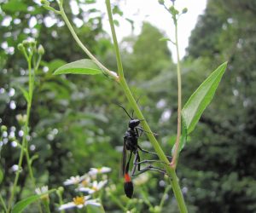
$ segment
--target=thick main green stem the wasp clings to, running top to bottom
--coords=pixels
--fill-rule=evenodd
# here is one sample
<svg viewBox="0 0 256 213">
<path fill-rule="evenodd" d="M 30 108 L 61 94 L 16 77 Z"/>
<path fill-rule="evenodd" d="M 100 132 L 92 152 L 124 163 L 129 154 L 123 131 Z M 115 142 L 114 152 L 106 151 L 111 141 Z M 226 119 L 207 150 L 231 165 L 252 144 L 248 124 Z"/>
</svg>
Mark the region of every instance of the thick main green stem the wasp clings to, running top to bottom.
<svg viewBox="0 0 256 213">
<path fill-rule="evenodd" d="M 175 169 L 173 169 L 172 167 L 169 166 L 170 162 L 166 158 L 166 154 L 161 149 L 161 147 L 159 145 L 159 142 L 154 137 L 154 134 L 151 134 L 152 131 L 150 130 L 146 119 L 143 117 L 143 113 L 141 112 L 141 110 L 137 106 L 137 102 L 135 101 L 133 95 L 131 94 L 131 90 L 130 90 L 129 86 L 125 81 L 123 66 L 122 66 L 120 53 L 119 53 L 119 46 L 118 46 L 118 42 L 117 42 L 117 39 L 116 39 L 116 33 L 115 33 L 115 30 L 114 30 L 114 25 L 113 25 L 113 16 L 112 16 L 110 0 L 106 0 L 106 5 L 107 5 L 107 9 L 108 9 L 109 24 L 110 24 L 111 32 L 112 32 L 112 35 L 113 35 L 113 45 L 114 45 L 115 54 L 116 54 L 117 63 L 118 63 L 118 68 L 119 68 L 118 69 L 119 84 L 120 84 L 121 88 L 124 90 L 126 98 L 130 102 L 132 109 L 134 110 L 134 112 L 137 115 L 137 118 L 142 120 L 143 130 L 146 131 L 146 134 L 148 136 L 148 140 L 151 142 L 152 146 L 154 147 L 155 153 L 157 153 L 157 155 L 158 155 L 158 157 L 160 158 L 161 161 L 166 163 L 165 164 L 166 173 L 169 177 L 171 177 L 172 190 L 173 190 L 173 193 L 174 193 L 174 195 L 177 199 L 178 208 L 179 208 L 180 212 L 186 213 L 186 212 L 188 212 L 188 210 L 187 210 L 186 204 L 185 204 L 184 199 L 183 199 L 183 194 L 182 194 L 181 189 L 180 189 L 179 184 L 178 184 L 178 179 L 177 179 Z"/>
</svg>

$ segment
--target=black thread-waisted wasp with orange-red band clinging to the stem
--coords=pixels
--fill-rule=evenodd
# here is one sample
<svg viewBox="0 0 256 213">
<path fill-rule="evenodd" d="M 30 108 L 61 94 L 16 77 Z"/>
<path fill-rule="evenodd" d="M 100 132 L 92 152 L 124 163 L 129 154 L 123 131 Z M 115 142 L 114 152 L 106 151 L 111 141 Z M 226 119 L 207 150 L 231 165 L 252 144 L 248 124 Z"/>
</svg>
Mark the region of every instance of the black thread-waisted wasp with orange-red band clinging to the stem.
<svg viewBox="0 0 256 213">
<path fill-rule="evenodd" d="M 129 113 L 125 110 L 124 107 L 122 107 L 122 106 L 119 106 L 119 107 L 123 108 L 124 111 L 126 112 L 126 114 L 128 115 L 128 117 L 130 118 L 130 121 L 129 121 L 129 124 L 128 124 L 128 130 L 126 130 L 125 136 L 124 136 L 122 172 L 123 172 L 123 176 L 125 178 L 125 183 L 124 183 L 125 194 L 128 198 L 131 199 L 132 194 L 133 194 L 133 184 L 132 184 L 132 181 L 131 181 L 131 176 L 138 176 L 138 175 L 140 175 L 143 172 L 148 171 L 148 170 L 159 171 L 160 173 L 163 173 L 163 174 L 166 174 L 166 171 L 162 170 L 160 168 L 154 167 L 151 164 L 149 164 L 147 167 L 145 167 L 143 170 L 141 170 L 140 165 L 143 164 L 143 163 L 154 163 L 154 162 L 160 162 L 160 161 L 158 161 L 158 160 L 143 160 L 143 161 L 141 161 L 138 150 L 140 150 L 143 153 L 154 154 L 155 156 L 157 156 L 157 154 L 149 152 L 147 150 L 144 150 L 142 147 L 140 147 L 137 144 L 139 136 L 143 132 L 147 132 L 147 131 L 143 130 L 142 127 L 139 126 L 139 124 L 141 123 L 142 120 L 132 118 L 129 115 Z M 139 130 L 141 131 L 141 134 L 139 134 Z M 152 134 L 154 134 L 154 133 L 152 133 Z M 130 151 L 130 156 L 128 157 L 128 160 L 127 160 L 127 163 L 126 163 L 126 151 L 127 150 Z M 131 170 L 131 176 L 129 176 L 129 165 L 130 165 L 132 154 L 134 154 L 135 157 L 134 157 L 134 160 L 133 160 L 133 167 L 132 167 L 132 170 Z M 169 158 L 171 158 L 171 157 L 169 157 Z M 135 174 L 136 170 L 137 170 L 137 174 Z"/>
</svg>

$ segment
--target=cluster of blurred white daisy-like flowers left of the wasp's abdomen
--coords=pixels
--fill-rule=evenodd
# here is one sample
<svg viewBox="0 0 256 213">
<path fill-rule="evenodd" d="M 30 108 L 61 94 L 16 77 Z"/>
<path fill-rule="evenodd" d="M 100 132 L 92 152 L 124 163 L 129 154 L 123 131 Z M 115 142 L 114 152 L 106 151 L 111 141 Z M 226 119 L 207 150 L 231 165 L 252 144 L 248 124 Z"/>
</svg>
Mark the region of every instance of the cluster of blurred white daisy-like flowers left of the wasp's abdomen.
<svg viewBox="0 0 256 213">
<path fill-rule="evenodd" d="M 64 181 L 64 186 L 74 185 L 76 187 L 75 191 L 79 192 L 80 196 L 73 198 L 73 202 L 61 204 L 59 210 L 74 207 L 81 209 L 87 204 L 101 206 L 100 199 L 96 198 L 94 193 L 101 191 L 102 187 L 106 186 L 108 176 L 105 174 L 110 171 L 111 169 L 108 167 L 90 168 L 90 171 L 84 174 L 84 176 L 71 176 Z M 81 193 L 86 193 L 86 195 L 81 195 Z M 94 194 L 96 199 L 90 199 L 92 194 Z"/>
</svg>

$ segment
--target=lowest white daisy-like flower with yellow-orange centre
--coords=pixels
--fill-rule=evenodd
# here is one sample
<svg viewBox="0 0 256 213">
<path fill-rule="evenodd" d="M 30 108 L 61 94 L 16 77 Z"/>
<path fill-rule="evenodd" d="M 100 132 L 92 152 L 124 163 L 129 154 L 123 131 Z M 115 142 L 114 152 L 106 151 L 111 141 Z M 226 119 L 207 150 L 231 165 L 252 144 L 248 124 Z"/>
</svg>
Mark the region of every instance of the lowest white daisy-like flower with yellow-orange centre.
<svg viewBox="0 0 256 213">
<path fill-rule="evenodd" d="M 89 196 L 80 196 L 80 197 L 78 196 L 76 198 L 73 198 L 73 202 L 69 202 L 67 204 L 61 204 L 61 206 L 59 207 L 59 210 L 66 210 L 66 209 L 70 209 L 73 207 L 81 209 L 84 206 L 86 206 L 87 204 L 101 206 L 101 204 L 98 202 L 97 199 L 90 199 L 90 195 Z"/>
</svg>

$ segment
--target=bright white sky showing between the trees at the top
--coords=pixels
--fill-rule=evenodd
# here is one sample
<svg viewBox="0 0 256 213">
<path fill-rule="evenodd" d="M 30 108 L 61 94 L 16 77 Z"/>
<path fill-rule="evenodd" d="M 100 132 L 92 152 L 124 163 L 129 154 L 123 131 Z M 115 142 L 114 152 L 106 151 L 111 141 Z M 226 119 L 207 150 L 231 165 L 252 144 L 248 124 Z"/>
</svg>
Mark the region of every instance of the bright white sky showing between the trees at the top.
<svg viewBox="0 0 256 213">
<path fill-rule="evenodd" d="M 114 3 L 115 1 L 113 1 Z M 169 2 L 169 1 L 166 1 Z M 168 37 L 172 40 L 174 36 L 174 27 L 172 25 L 171 15 L 167 13 L 157 0 L 125 0 L 120 1 L 120 9 L 124 12 L 124 18 L 134 20 L 135 23 L 135 34 L 141 31 L 143 21 L 148 21 L 154 26 L 157 26 L 162 30 Z M 189 35 L 191 30 L 195 27 L 197 18 L 199 14 L 204 12 L 206 8 L 207 0 L 194 0 L 194 1 L 184 1 L 177 0 L 176 6 L 180 11 L 183 8 L 188 8 L 187 14 L 183 14 L 178 22 L 179 28 L 179 46 L 180 55 L 183 57 L 185 55 L 185 48 L 189 43 Z M 101 1 L 98 3 L 99 7 L 105 11 L 105 5 Z M 119 21 L 120 26 L 117 28 L 117 35 L 119 40 L 131 33 L 131 25 L 125 19 Z M 104 21 L 104 26 L 106 30 L 110 33 L 108 20 Z M 174 61 L 176 61 L 176 54 L 174 46 L 170 43 L 169 47 L 172 49 L 172 56 Z"/>
</svg>

